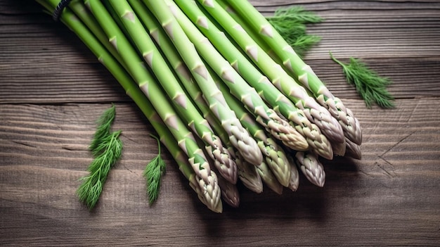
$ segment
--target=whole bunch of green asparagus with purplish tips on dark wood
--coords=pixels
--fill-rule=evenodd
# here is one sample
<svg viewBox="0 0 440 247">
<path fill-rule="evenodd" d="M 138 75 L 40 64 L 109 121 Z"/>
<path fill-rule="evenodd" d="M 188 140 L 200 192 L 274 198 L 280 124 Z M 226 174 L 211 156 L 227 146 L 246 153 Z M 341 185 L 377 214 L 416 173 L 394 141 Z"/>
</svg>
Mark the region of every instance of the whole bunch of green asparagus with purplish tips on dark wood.
<svg viewBox="0 0 440 247">
<path fill-rule="evenodd" d="M 36 0 L 53 13 L 60 0 Z M 361 158 L 361 127 L 247 0 L 73 0 L 60 20 L 150 120 L 200 201 L 237 207 L 238 179 L 323 186 L 321 158 Z"/>
</svg>

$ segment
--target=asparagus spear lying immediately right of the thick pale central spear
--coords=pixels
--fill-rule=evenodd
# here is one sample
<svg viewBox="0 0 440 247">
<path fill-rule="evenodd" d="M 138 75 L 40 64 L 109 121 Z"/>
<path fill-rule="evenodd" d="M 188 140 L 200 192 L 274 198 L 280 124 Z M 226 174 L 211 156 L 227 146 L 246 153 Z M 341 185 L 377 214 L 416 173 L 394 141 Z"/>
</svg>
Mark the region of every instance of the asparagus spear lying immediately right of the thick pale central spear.
<svg viewBox="0 0 440 247">
<path fill-rule="evenodd" d="M 283 144 L 286 146 L 299 151 L 309 148 L 306 139 L 287 121 L 280 118 L 273 109 L 266 106 L 266 103 L 261 99 L 257 91 L 238 75 L 238 72 L 221 56 L 193 23 L 186 18 L 186 15 L 181 12 L 179 7 L 172 3 L 172 1 L 167 1 L 167 4 L 172 8 L 172 13 L 174 13 L 176 20 L 178 20 L 190 41 L 193 42 L 200 56 L 216 75 L 223 80 L 224 84 L 229 87 L 231 93 L 237 99 L 240 99 L 247 109 L 253 113 L 257 122 L 263 125 L 273 137 L 283 141 Z"/>
</svg>

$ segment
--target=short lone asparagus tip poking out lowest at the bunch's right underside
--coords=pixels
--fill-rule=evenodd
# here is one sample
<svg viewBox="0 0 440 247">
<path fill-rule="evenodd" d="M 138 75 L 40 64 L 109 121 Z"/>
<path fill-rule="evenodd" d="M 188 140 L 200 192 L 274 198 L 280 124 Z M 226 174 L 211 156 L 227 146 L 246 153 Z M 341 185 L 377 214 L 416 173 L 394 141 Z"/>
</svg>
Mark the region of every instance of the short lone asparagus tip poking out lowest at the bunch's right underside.
<svg viewBox="0 0 440 247">
<path fill-rule="evenodd" d="M 295 158 L 297 166 L 312 184 L 320 187 L 324 186 L 324 167 L 316 155 L 309 152 L 297 152 Z"/>
</svg>

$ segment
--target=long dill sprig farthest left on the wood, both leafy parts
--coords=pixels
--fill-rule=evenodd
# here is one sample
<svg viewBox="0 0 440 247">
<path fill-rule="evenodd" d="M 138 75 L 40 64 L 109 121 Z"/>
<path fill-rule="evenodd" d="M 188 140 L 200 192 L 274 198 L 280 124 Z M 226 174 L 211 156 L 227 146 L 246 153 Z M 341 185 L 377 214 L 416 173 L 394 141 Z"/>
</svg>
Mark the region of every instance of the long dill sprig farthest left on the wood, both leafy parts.
<svg viewBox="0 0 440 247">
<path fill-rule="evenodd" d="M 90 210 L 93 209 L 101 196 L 101 191 L 108 177 L 110 168 L 115 165 L 122 154 L 122 131 L 110 132 L 115 119 L 115 106 L 105 110 L 97 121 L 98 127 L 89 147 L 93 160 L 87 167 L 89 175 L 81 177 L 82 184 L 77 189 L 79 201 Z"/>
</svg>

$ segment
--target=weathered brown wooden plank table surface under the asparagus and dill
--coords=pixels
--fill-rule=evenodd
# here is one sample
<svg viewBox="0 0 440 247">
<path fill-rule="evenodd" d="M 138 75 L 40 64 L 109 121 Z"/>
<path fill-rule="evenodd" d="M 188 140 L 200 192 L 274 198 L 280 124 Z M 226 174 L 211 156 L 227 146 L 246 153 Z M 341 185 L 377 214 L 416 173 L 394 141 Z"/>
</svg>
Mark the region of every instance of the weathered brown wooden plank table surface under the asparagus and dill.
<svg viewBox="0 0 440 247">
<path fill-rule="evenodd" d="M 153 206 L 145 164 L 153 127 L 93 54 L 31 0 L 0 0 L 0 245 L 6 246 L 440 246 L 439 1 L 257 1 L 304 6 L 325 18 L 306 61 L 354 111 L 362 160 L 322 160 L 318 188 L 255 194 L 240 207 L 202 205 L 167 151 Z M 396 108 L 365 108 L 328 51 L 362 58 L 389 77 Z M 115 103 L 122 160 L 96 208 L 75 190 L 91 162 L 95 120 Z"/>
</svg>

